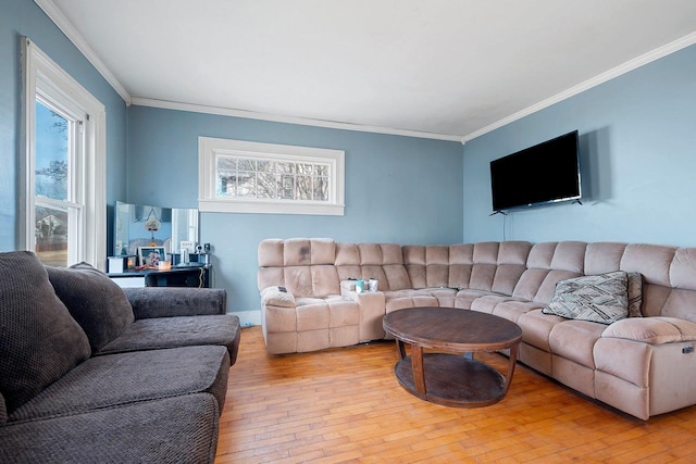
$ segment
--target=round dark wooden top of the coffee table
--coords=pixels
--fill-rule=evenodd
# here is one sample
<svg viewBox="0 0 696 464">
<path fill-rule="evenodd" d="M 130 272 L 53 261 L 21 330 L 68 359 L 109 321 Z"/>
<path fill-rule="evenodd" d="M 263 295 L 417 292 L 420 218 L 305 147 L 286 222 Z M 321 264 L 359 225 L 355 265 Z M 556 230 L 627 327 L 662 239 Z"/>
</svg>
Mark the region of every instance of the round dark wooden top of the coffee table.
<svg viewBox="0 0 696 464">
<path fill-rule="evenodd" d="M 456 351 L 502 350 L 522 338 L 520 326 L 506 318 L 453 308 L 408 308 L 384 316 L 384 329 L 423 348 Z"/>
</svg>

